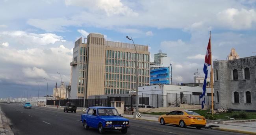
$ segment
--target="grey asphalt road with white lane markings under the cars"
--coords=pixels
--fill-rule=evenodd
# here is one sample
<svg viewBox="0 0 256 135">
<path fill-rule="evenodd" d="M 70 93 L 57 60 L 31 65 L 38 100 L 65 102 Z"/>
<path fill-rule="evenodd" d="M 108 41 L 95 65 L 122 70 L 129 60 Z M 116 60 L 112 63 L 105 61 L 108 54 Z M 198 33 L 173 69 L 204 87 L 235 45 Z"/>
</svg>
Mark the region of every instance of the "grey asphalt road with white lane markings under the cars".
<svg viewBox="0 0 256 135">
<path fill-rule="evenodd" d="M 15 135 L 99 135 L 97 129 L 83 129 L 82 113 L 64 113 L 63 110 L 32 107 L 23 109 L 21 104 L 0 104 L 6 117 L 11 120 Z M 158 122 L 130 119 L 127 135 L 242 135 L 212 129 L 180 128 L 160 125 Z M 106 135 L 122 134 L 107 131 Z"/>
</svg>

